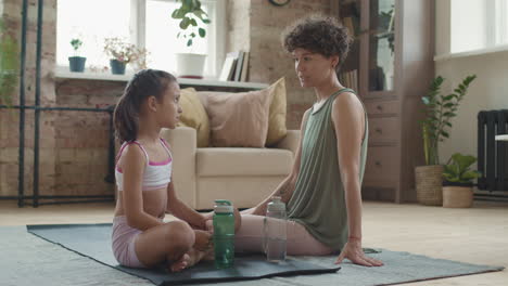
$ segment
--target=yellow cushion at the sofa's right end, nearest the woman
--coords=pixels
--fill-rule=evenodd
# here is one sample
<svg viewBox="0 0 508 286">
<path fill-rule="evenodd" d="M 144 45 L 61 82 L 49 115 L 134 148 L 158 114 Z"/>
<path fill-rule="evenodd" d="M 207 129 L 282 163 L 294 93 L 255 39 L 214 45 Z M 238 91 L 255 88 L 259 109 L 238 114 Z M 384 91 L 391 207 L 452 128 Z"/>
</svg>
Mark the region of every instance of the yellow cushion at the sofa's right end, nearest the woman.
<svg viewBox="0 0 508 286">
<path fill-rule="evenodd" d="M 281 78 L 271 84 L 274 96 L 268 116 L 268 134 L 266 136 L 266 145 L 272 146 L 285 136 L 288 129 L 285 128 L 285 80 Z"/>
</svg>

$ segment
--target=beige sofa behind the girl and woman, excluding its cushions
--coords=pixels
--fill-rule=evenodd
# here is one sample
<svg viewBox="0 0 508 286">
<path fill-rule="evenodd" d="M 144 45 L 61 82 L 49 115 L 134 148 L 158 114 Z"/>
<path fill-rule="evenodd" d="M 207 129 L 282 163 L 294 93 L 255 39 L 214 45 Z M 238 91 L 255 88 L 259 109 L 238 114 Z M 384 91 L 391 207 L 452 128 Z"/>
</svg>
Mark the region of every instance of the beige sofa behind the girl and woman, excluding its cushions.
<svg viewBox="0 0 508 286">
<path fill-rule="evenodd" d="M 196 147 L 196 131 L 163 129 L 172 146 L 173 180 L 178 197 L 195 209 L 212 209 L 214 199 L 230 199 L 238 208 L 253 207 L 289 174 L 300 131 L 274 148 Z"/>
</svg>

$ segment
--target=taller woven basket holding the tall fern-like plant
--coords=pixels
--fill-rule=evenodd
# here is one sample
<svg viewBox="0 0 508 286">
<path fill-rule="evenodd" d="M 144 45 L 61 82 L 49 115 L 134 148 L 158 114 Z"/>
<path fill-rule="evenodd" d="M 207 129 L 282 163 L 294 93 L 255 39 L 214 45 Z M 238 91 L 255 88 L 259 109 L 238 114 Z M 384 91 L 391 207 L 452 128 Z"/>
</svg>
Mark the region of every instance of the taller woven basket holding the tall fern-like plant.
<svg viewBox="0 0 508 286">
<path fill-rule="evenodd" d="M 443 170 L 442 165 L 416 167 L 418 203 L 428 206 L 443 206 Z"/>
</svg>

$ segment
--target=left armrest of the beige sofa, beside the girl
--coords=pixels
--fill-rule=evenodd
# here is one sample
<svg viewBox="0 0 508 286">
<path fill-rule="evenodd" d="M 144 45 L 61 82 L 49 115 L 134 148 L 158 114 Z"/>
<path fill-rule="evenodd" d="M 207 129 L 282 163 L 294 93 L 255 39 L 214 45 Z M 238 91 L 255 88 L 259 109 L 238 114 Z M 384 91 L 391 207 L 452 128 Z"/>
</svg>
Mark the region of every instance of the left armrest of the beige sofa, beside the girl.
<svg viewBox="0 0 508 286">
<path fill-rule="evenodd" d="M 195 208 L 196 131 L 190 127 L 162 129 L 161 138 L 169 143 L 173 156 L 173 183 L 178 198 Z"/>
</svg>

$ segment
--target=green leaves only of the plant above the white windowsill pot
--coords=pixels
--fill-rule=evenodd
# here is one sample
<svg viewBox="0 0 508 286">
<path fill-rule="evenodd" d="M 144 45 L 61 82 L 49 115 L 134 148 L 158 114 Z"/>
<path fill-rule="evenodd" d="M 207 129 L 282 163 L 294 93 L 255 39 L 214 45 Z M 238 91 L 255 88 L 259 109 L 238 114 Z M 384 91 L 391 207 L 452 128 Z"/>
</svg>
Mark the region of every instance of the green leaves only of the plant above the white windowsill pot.
<svg viewBox="0 0 508 286">
<path fill-rule="evenodd" d="M 173 11 L 172 17 L 180 20 L 179 27 L 182 29 L 178 32 L 177 38 L 187 41 L 187 47 L 191 47 L 196 36 L 204 38 L 206 29 L 204 25 L 211 23 L 208 14 L 201 8 L 199 0 L 177 0 L 181 2 L 181 6 Z M 201 22 L 201 23 L 200 23 Z"/>
</svg>

